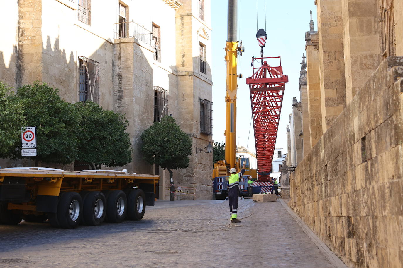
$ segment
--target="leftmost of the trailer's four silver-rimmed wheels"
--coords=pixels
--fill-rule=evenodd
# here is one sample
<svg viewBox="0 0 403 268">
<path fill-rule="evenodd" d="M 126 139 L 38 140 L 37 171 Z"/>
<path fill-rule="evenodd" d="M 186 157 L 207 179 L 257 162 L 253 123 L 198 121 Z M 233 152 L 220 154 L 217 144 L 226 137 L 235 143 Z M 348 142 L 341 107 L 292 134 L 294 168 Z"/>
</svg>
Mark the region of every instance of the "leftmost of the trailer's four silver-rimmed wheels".
<svg viewBox="0 0 403 268">
<path fill-rule="evenodd" d="M 53 227 L 73 229 L 80 223 L 83 215 L 83 200 L 77 192 L 64 192 L 59 195 L 56 213 L 49 213 L 49 222 Z"/>
</svg>

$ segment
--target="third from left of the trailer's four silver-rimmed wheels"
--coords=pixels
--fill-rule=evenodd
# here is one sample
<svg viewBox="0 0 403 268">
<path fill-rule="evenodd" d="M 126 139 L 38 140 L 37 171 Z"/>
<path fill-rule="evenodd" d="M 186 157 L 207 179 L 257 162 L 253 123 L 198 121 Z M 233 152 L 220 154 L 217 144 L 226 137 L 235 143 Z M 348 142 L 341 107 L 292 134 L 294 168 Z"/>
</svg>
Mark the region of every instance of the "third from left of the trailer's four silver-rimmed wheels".
<svg viewBox="0 0 403 268">
<path fill-rule="evenodd" d="M 126 217 L 127 198 L 125 192 L 114 190 L 106 200 L 106 220 L 111 223 L 121 223 Z"/>
</svg>

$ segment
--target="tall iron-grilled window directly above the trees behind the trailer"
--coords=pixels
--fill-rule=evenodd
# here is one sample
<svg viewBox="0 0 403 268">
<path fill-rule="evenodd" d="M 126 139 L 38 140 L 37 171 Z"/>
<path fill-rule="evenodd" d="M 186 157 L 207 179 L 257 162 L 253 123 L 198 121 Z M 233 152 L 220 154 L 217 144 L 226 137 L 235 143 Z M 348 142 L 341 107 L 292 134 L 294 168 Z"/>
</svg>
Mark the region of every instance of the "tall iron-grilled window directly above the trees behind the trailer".
<svg viewBox="0 0 403 268">
<path fill-rule="evenodd" d="M 87 57 L 78 57 L 80 101 L 100 103 L 100 63 Z"/>
</svg>

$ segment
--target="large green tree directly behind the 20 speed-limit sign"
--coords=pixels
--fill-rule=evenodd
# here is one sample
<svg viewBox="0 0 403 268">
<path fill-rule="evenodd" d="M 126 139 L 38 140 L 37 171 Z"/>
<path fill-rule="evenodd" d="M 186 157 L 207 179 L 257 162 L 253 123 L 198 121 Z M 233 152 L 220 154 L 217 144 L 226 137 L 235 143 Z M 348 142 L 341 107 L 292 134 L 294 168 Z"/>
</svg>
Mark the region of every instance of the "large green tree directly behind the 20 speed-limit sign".
<svg viewBox="0 0 403 268">
<path fill-rule="evenodd" d="M 35 166 L 39 160 L 59 164 L 69 164 L 75 160 L 79 115 L 73 104 L 60 98 L 57 88 L 33 82 L 32 85 L 19 88 L 12 100 L 23 105 L 27 126 L 36 127 Z M 21 158 L 21 139 L 14 143 L 13 148 L 17 149 L 9 150 L 4 156 Z"/>
</svg>

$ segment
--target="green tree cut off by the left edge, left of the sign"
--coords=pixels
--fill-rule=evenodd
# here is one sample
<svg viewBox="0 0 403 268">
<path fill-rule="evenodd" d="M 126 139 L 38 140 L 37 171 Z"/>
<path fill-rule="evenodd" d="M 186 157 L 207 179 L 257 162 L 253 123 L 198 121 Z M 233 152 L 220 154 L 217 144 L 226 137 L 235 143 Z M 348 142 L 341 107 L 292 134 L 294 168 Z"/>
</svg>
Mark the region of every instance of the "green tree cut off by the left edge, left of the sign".
<svg viewBox="0 0 403 268">
<path fill-rule="evenodd" d="M 21 127 L 25 127 L 23 105 L 11 88 L 0 82 L 0 157 L 6 158 L 21 141 Z"/>
</svg>

